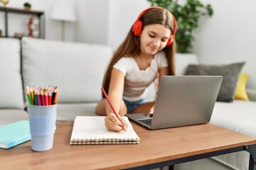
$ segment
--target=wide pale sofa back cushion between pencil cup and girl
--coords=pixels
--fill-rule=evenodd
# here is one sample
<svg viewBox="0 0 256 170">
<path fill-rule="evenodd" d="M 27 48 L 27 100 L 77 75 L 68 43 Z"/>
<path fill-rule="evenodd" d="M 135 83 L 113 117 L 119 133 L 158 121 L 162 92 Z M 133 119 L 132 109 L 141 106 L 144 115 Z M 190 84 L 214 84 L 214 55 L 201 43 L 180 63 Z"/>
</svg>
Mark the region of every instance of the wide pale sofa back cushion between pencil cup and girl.
<svg viewBox="0 0 256 170">
<path fill-rule="evenodd" d="M 21 45 L 25 86 L 58 86 L 58 103 L 102 98 L 111 47 L 34 38 L 23 38 Z"/>
</svg>

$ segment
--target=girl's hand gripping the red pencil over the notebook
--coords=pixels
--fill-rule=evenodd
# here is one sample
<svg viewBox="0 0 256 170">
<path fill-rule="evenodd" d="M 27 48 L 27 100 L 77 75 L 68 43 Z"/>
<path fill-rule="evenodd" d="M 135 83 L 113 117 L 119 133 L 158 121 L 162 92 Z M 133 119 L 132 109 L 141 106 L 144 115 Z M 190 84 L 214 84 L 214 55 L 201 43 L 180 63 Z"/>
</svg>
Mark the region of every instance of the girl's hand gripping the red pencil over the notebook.
<svg viewBox="0 0 256 170">
<path fill-rule="evenodd" d="M 119 115 L 118 115 L 119 116 Z M 122 116 L 119 116 L 118 120 L 117 115 L 114 113 L 110 113 L 107 115 L 105 118 L 105 126 L 107 130 L 112 131 L 112 132 L 121 132 L 122 130 L 127 131 L 127 123 L 126 121 L 122 118 Z"/>
</svg>

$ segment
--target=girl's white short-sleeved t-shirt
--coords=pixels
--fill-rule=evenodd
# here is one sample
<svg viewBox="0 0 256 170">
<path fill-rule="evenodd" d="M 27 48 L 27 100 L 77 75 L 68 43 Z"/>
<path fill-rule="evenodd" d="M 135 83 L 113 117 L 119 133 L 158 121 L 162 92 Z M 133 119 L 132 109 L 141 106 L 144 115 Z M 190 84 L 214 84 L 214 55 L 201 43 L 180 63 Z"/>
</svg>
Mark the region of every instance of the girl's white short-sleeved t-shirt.
<svg viewBox="0 0 256 170">
<path fill-rule="evenodd" d="M 168 67 L 163 51 L 156 53 L 150 66 L 144 70 L 139 69 L 133 57 L 122 57 L 118 60 L 113 68 L 124 74 L 124 100 L 139 101 L 145 98 L 148 86 L 156 79 L 162 67 Z"/>
</svg>

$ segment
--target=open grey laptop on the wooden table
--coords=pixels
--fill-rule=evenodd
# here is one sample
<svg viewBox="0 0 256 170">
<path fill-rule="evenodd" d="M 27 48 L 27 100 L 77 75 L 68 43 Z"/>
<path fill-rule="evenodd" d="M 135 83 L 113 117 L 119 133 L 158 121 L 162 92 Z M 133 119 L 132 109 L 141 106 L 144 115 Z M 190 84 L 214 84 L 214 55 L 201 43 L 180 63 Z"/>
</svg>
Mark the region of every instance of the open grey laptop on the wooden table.
<svg viewBox="0 0 256 170">
<path fill-rule="evenodd" d="M 222 76 L 161 77 L 154 114 L 127 117 L 150 130 L 208 123 L 222 81 Z"/>
</svg>

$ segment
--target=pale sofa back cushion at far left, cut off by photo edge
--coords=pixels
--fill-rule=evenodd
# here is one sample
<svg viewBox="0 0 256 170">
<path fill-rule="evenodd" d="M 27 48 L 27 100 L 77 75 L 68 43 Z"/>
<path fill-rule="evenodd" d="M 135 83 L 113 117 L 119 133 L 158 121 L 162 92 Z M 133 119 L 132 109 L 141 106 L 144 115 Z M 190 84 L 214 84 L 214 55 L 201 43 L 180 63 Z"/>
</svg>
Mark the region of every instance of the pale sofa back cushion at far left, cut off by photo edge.
<svg viewBox="0 0 256 170">
<path fill-rule="evenodd" d="M 0 108 L 24 108 L 19 40 L 0 38 L 0 56 Z"/>
</svg>

